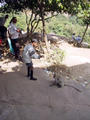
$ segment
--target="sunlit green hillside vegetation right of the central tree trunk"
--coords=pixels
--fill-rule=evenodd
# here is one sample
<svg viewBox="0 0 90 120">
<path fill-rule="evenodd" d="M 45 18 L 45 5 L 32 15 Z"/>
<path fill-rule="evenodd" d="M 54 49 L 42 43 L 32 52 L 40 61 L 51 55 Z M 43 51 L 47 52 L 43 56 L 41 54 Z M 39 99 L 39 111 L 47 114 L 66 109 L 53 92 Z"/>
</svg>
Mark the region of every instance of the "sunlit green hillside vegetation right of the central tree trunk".
<svg viewBox="0 0 90 120">
<path fill-rule="evenodd" d="M 66 17 L 65 17 L 66 16 Z M 60 36 L 72 38 L 72 34 L 83 36 L 85 25 L 82 19 L 78 20 L 76 16 L 58 15 L 46 22 L 47 33 L 55 33 Z M 88 29 L 84 41 L 90 43 L 90 28 Z"/>
</svg>

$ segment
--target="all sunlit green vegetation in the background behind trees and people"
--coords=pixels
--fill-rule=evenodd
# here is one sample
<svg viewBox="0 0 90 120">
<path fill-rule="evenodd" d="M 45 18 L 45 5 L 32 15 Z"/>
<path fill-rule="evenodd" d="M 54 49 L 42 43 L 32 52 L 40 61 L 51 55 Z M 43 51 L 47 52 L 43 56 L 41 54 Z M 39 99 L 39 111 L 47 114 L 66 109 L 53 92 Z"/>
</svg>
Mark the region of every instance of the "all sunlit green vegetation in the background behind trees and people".
<svg viewBox="0 0 90 120">
<path fill-rule="evenodd" d="M 2 14 L 0 14 L 2 16 Z M 19 12 L 18 14 L 9 14 L 9 19 L 6 22 L 6 26 L 8 27 L 10 19 L 16 16 L 18 19 L 17 27 L 26 31 L 26 17 L 25 14 Z M 76 36 L 80 35 L 82 37 L 86 26 L 84 25 L 81 19 L 78 19 L 76 16 L 69 16 L 66 14 L 59 14 L 58 16 L 52 17 L 46 20 L 46 32 L 54 33 L 56 35 L 72 38 L 72 34 L 76 33 Z M 36 29 L 36 32 L 41 32 L 42 26 L 41 23 Z M 90 44 L 90 27 L 88 28 L 84 42 L 88 42 Z"/>
</svg>

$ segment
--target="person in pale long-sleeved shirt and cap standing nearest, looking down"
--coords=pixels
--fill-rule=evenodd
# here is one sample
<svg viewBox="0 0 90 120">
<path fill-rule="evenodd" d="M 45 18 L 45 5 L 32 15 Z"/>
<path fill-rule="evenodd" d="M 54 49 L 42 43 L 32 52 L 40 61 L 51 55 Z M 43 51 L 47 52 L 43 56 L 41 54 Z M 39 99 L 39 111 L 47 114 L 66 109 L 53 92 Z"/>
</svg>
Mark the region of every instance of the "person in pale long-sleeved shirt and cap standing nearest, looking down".
<svg viewBox="0 0 90 120">
<path fill-rule="evenodd" d="M 24 50 L 23 50 L 23 61 L 27 66 L 27 77 L 30 78 L 30 80 L 37 80 L 37 78 L 33 77 L 33 62 L 32 59 L 40 59 L 40 56 L 36 53 L 35 47 L 37 47 L 37 40 L 33 39 L 32 43 L 29 43 L 27 41 Z"/>
</svg>

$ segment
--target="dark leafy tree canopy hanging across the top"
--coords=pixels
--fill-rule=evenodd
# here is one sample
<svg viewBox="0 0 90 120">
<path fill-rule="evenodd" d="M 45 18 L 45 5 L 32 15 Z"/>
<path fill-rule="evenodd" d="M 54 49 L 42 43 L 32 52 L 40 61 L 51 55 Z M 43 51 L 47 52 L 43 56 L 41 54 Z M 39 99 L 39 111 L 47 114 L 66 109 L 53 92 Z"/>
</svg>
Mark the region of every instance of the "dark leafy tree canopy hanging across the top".
<svg viewBox="0 0 90 120">
<path fill-rule="evenodd" d="M 30 9 L 39 14 L 41 12 L 40 9 L 43 8 L 44 13 L 68 12 L 76 14 L 79 6 L 82 9 L 85 8 L 87 0 L 5 0 L 5 2 L 7 4 L 0 8 L 2 12 L 17 12 Z"/>
</svg>

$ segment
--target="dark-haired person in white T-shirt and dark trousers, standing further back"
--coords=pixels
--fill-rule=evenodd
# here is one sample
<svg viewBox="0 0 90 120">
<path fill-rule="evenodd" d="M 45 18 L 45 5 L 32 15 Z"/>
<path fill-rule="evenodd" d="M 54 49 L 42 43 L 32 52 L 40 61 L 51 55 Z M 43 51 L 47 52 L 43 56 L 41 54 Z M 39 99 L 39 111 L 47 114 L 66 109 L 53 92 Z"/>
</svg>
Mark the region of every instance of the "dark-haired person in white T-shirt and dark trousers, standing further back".
<svg viewBox="0 0 90 120">
<path fill-rule="evenodd" d="M 17 29 L 16 23 L 17 23 L 17 18 L 13 17 L 11 19 L 10 25 L 8 27 L 8 33 L 9 33 L 9 37 L 11 39 L 12 47 L 14 49 L 15 58 L 18 59 L 19 58 L 19 54 L 20 54 L 19 43 L 18 43 L 19 42 L 20 30 Z"/>
</svg>

